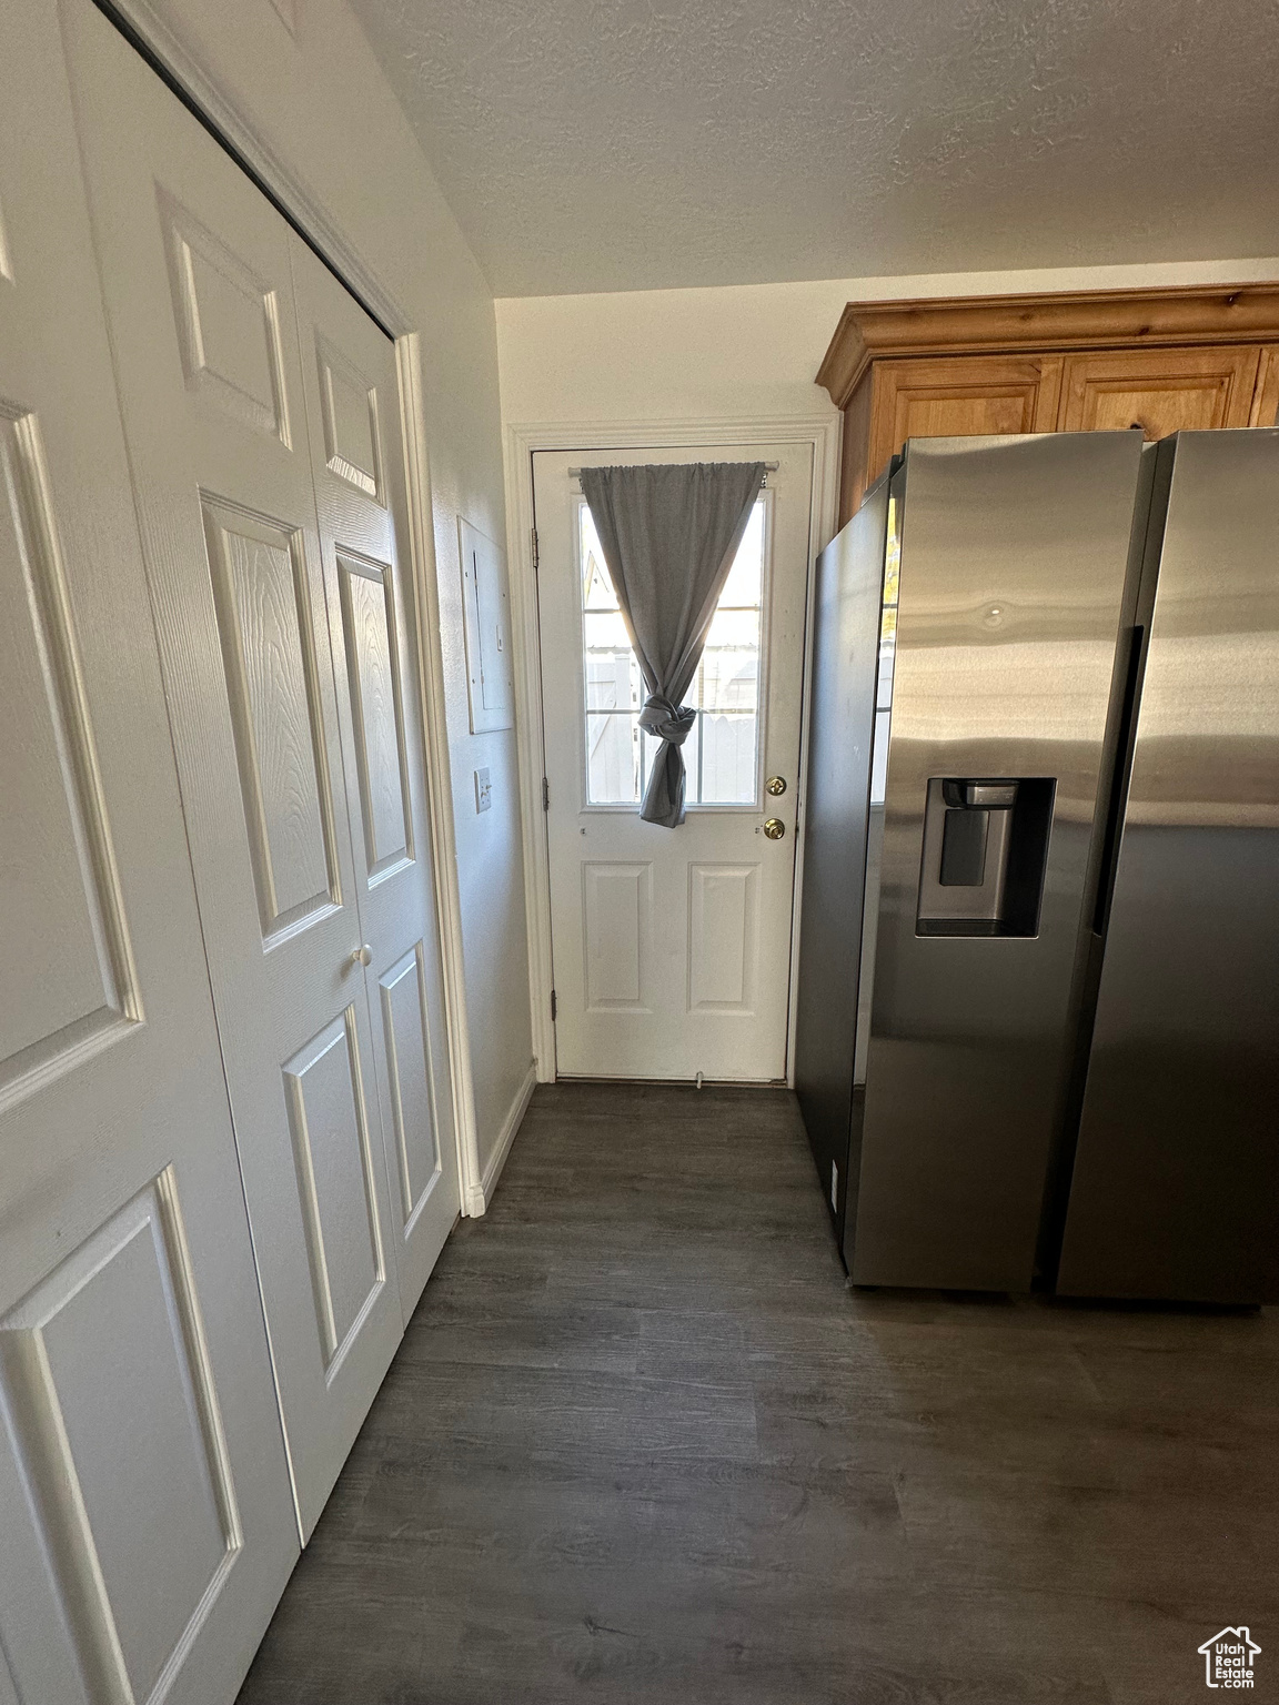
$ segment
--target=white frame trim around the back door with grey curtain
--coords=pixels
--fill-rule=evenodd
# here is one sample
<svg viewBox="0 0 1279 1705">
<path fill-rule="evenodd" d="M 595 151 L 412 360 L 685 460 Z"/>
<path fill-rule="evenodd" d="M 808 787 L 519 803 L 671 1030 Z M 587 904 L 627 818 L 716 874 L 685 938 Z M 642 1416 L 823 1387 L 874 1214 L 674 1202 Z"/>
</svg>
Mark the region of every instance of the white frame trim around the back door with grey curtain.
<svg viewBox="0 0 1279 1705">
<path fill-rule="evenodd" d="M 808 568 L 803 616 L 803 680 L 800 718 L 800 774 L 795 806 L 795 890 L 791 905 L 790 1001 L 786 1018 L 786 1081 L 795 1071 L 795 974 L 800 951 L 803 887 L 803 822 L 808 796 L 808 668 L 813 641 L 813 575 L 817 554 L 837 527 L 839 447 L 842 416 L 706 416 L 622 421 L 520 421 L 508 423 L 506 542 L 510 561 L 512 650 L 515 663 L 515 743 L 520 771 L 520 824 L 524 834 L 524 902 L 529 928 L 529 1003 L 539 1083 L 554 1083 L 556 1047 L 551 1020 L 554 963 L 551 953 L 551 859 L 542 810 L 546 730 L 542 721 L 542 668 L 537 624 L 537 571 L 534 568 L 534 452 L 537 450 L 650 450 L 670 445 L 687 450 L 723 443 L 807 445 L 813 457 L 813 491 L 808 515 Z"/>
</svg>

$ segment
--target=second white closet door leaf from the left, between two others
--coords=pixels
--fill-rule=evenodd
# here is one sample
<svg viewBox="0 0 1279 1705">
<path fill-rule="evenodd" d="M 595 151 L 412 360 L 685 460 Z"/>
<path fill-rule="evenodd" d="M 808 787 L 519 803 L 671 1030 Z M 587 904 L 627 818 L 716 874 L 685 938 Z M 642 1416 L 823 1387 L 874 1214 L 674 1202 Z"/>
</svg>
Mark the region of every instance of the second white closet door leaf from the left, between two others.
<svg viewBox="0 0 1279 1705">
<path fill-rule="evenodd" d="M 305 1540 L 402 1311 L 290 232 L 89 0 L 65 17 Z"/>
</svg>

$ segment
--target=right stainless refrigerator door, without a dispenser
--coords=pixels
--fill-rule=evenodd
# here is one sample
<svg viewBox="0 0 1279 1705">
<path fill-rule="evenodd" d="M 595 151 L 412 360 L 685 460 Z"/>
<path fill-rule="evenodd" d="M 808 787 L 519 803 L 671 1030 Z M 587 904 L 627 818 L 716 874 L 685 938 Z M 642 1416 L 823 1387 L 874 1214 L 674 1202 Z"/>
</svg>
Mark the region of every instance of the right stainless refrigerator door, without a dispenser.
<svg viewBox="0 0 1279 1705">
<path fill-rule="evenodd" d="M 1279 431 L 1160 445 L 1057 1291 L 1279 1301 Z"/>
</svg>

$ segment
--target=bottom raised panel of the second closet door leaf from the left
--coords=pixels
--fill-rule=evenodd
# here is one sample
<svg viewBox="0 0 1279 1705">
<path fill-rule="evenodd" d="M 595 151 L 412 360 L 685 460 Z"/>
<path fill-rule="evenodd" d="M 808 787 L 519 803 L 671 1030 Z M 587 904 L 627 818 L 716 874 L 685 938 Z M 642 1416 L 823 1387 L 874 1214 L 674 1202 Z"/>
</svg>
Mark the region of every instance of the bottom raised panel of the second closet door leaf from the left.
<svg viewBox="0 0 1279 1705">
<path fill-rule="evenodd" d="M 298 1049 L 283 1072 L 315 1320 L 333 1381 L 387 1275 L 355 1008 Z"/>
</svg>

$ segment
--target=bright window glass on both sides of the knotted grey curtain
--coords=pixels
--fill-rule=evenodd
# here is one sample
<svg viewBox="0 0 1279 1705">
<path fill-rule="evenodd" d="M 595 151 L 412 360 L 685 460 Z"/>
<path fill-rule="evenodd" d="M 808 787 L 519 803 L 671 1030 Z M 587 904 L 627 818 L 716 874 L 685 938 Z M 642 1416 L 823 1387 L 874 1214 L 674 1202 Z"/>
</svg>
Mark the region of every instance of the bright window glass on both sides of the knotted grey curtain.
<svg viewBox="0 0 1279 1705">
<path fill-rule="evenodd" d="M 640 728 L 645 684 L 604 563 L 590 506 L 578 506 L 587 689 L 587 801 L 638 805 L 658 740 Z M 759 796 L 759 646 L 764 500 L 750 512 L 684 702 L 697 720 L 684 742 L 686 803 L 755 805 Z"/>
</svg>

